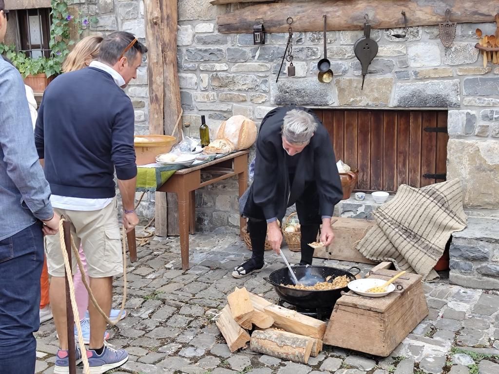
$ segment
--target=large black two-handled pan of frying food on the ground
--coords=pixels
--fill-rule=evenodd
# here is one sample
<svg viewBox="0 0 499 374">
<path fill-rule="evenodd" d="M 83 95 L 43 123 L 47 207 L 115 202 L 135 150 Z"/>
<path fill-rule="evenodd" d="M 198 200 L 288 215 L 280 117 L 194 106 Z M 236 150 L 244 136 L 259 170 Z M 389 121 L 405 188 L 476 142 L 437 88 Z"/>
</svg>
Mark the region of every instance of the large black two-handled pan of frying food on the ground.
<svg viewBox="0 0 499 374">
<path fill-rule="evenodd" d="M 352 274 L 350 272 L 352 269 L 356 269 L 357 272 Z M 296 278 L 298 278 L 298 281 L 300 281 L 300 278 L 314 278 L 316 279 L 316 282 L 325 282 L 326 277 L 328 276 L 336 278 L 342 275 L 346 275 L 350 280 L 355 280 L 355 275 L 360 273 L 360 269 L 355 266 L 348 270 L 336 269 L 329 266 L 293 266 L 293 271 Z M 281 284 L 293 284 L 287 267 L 275 270 L 270 273 L 268 278 L 263 279 L 274 286 L 275 292 L 282 300 L 304 309 L 332 308 L 336 303 L 336 300 L 341 297 L 341 291 L 348 291 L 348 287 L 327 291 L 315 291 L 298 290 L 281 286 Z"/>
</svg>

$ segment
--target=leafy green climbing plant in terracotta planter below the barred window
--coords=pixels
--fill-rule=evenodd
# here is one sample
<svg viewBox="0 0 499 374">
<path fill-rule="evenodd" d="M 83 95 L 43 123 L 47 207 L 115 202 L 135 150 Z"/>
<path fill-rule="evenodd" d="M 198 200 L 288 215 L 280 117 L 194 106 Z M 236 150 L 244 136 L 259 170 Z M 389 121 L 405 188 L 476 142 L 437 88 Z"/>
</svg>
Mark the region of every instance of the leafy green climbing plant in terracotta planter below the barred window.
<svg viewBox="0 0 499 374">
<path fill-rule="evenodd" d="M 69 14 L 67 3 L 64 0 L 51 0 L 52 23 L 50 25 L 50 56 L 31 58 L 24 52 L 16 51 L 15 45 L 0 44 L 0 54 L 5 54 L 21 73 L 24 83 L 34 92 L 43 92 L 45 87 L 62 71 L 62 62 L 69 53 L 69 46 L 74 44 L 70 40 L 69 22 L 73 21 L 78 36 L 87 27 L 89 21 L 78 15 Z"/>
</svg>

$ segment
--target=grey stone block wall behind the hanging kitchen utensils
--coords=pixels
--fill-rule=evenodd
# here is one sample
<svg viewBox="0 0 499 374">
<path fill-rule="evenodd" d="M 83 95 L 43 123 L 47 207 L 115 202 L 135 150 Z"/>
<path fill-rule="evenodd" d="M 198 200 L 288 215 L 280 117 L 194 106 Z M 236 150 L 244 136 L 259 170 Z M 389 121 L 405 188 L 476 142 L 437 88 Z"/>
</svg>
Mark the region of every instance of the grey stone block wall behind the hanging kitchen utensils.
<svg viewBox="0 0 499 374">
<path fill-rule="evenodd" d="M 99 0 L 97 5 L 98 32 L 125 29 L 144 36 L 142 0 Z M 492 34 L 495 24 L 459 24 L 448 49 L 439 40 L 437 26 L 410 27 L 405 38 L 392 36 L 403 29 L 373 30 L 379 52 L 360 90 L 360 64 L 353 44 L 361 31 L 327 33 L 335 75 L 330 84 L 316 78 L 322 32 L 294 33 L 296 76 L 286 77 L 283 68 L 275 83 L 287 34 L 267 34 L 263 46 L 253 45 L 252 34 L 220 34 L 216 15 L 230 8 L 205 0 L 179 0 L 183 124 L 190 126 L 191 136 L 198 134 L 201 115 L 206 115 L 213 139 L 220 123 L 232 115 L 243 114 L 259 124 L 270 109 L 289 103 L 322 108 L 448 109 L 448 178 L 463 182 L 467 209 L 488 208 L 499 216 L 499 67 L 489 63 L 484 68 L 482 55 L 474 47 L 475 29 Z M 127 88 L 136 106 L 138 133 L 147 132 L 147 75 L 145 66 L 142 69 L 141 77 Z M 215 196 L 218 190 L 235 196 L 235 180 L 214 188 L 198 191 L 198 228 L 212 230 L 225 222 L 227 229 L 235 230 L 236 205 Z M 154 194 L 146 196 L 140 212 L 153 216 Z"/>
</svg>

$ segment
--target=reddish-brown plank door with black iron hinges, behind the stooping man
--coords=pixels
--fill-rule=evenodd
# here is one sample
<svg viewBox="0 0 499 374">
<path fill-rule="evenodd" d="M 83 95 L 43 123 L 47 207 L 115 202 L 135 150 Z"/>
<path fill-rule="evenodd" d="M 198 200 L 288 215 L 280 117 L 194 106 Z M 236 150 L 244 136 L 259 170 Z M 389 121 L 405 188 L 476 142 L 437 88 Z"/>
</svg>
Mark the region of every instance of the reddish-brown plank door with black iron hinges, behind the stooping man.
<svg viewBox="0 0 499 374">
<path fill-rule="evenodd" d="M 315 110 L 336 160 L 359 169 L 356 190 L 394 192 L 445 180 L 447 112 Z M 438 178 L 438 179 L 437 179 Z"/>
</svg>

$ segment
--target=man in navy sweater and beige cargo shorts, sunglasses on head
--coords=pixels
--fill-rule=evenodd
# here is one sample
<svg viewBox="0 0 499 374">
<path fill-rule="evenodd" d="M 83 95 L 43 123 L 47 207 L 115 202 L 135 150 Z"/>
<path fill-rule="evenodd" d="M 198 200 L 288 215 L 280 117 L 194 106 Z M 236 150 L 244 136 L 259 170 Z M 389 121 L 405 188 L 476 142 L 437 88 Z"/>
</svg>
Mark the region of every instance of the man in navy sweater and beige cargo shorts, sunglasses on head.
<svg viewBox="0 0 499 374">
<path fill-rule="evenodd" d="M 123 271 L 114 171 L 123 202 L 123 225 L 138 223 L 134 211 L 134 110 L 123 92 L 136 77 L 146 47 L 133 34 L 117 31 L 101 43 L 97 61 L 54 79 L 38 111 L 35 144 L 50 184 L 50 201 L 71 221 L 71 231 L 88 262 L 90 287 L 109 315 L 113 276 Z M 56 373 L 68 373 L 64 263 L 58 237 L 47 240 L 50 305 L 60 349 Z M 76 268 L 73 261 L 73 270 Z M 125 350 L 104 346 L 106 321 L 92 303 L 88 361 L 92 373 L 104 373 L 128 360 Z M 77 350 L 78 361 L 81 353 Z"/>
</svg>

